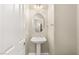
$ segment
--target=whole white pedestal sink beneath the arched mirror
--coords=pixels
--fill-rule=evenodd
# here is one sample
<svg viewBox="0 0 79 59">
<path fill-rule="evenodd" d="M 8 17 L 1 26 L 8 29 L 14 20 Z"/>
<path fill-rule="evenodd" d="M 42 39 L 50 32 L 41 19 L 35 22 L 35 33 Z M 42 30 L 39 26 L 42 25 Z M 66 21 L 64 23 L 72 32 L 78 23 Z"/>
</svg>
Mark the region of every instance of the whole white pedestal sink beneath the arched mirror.
<svg viewBox="0 0 79 59">
<path fill-rule="evenodd" d="M 32 37 L 31 42 L 36 44 L 36 54 L 41 54 L 41 44 L 45 43 L 47 39 L 45 37 Z"/>
</svg>

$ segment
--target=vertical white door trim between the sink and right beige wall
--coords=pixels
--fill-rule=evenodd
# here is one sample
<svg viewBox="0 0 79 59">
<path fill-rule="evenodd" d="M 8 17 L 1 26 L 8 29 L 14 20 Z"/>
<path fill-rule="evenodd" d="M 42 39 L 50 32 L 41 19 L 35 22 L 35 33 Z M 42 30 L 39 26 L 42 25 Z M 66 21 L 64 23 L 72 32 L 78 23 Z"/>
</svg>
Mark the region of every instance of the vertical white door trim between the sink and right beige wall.
<svg viewBox="0 0 79 59">
<path fill-rule="evenodd" d="M 48 5 L 48 44 L 49 53 L 55 54 L 54 46 L 54 5 Z"/>
</svg>

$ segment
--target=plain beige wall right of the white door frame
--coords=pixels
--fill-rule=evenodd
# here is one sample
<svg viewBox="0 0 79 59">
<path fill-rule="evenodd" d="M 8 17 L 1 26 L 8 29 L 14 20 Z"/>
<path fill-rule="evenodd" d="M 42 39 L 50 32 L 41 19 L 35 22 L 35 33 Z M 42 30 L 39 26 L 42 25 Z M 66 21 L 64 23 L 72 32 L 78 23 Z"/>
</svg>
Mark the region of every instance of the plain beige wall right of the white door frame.
<svg viewBox="0 0 79 59">
<path fill-rule="evenodd" d="M 76 5 L 55 5 L 55 53 L 76 54 Z"/>
</svg>

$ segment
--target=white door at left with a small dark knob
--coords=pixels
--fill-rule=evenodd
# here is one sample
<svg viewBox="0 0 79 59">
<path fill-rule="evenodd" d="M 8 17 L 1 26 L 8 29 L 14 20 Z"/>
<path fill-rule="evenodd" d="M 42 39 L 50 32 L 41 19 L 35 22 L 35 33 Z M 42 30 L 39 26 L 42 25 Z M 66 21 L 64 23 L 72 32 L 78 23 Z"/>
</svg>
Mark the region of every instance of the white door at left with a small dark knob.
<svg viewBox="0 0 79 59">
<path fill-rule="evenodd" d="M 25 54 L 23 5 L 0 5 L 0 54 Z"/>
</svg>

